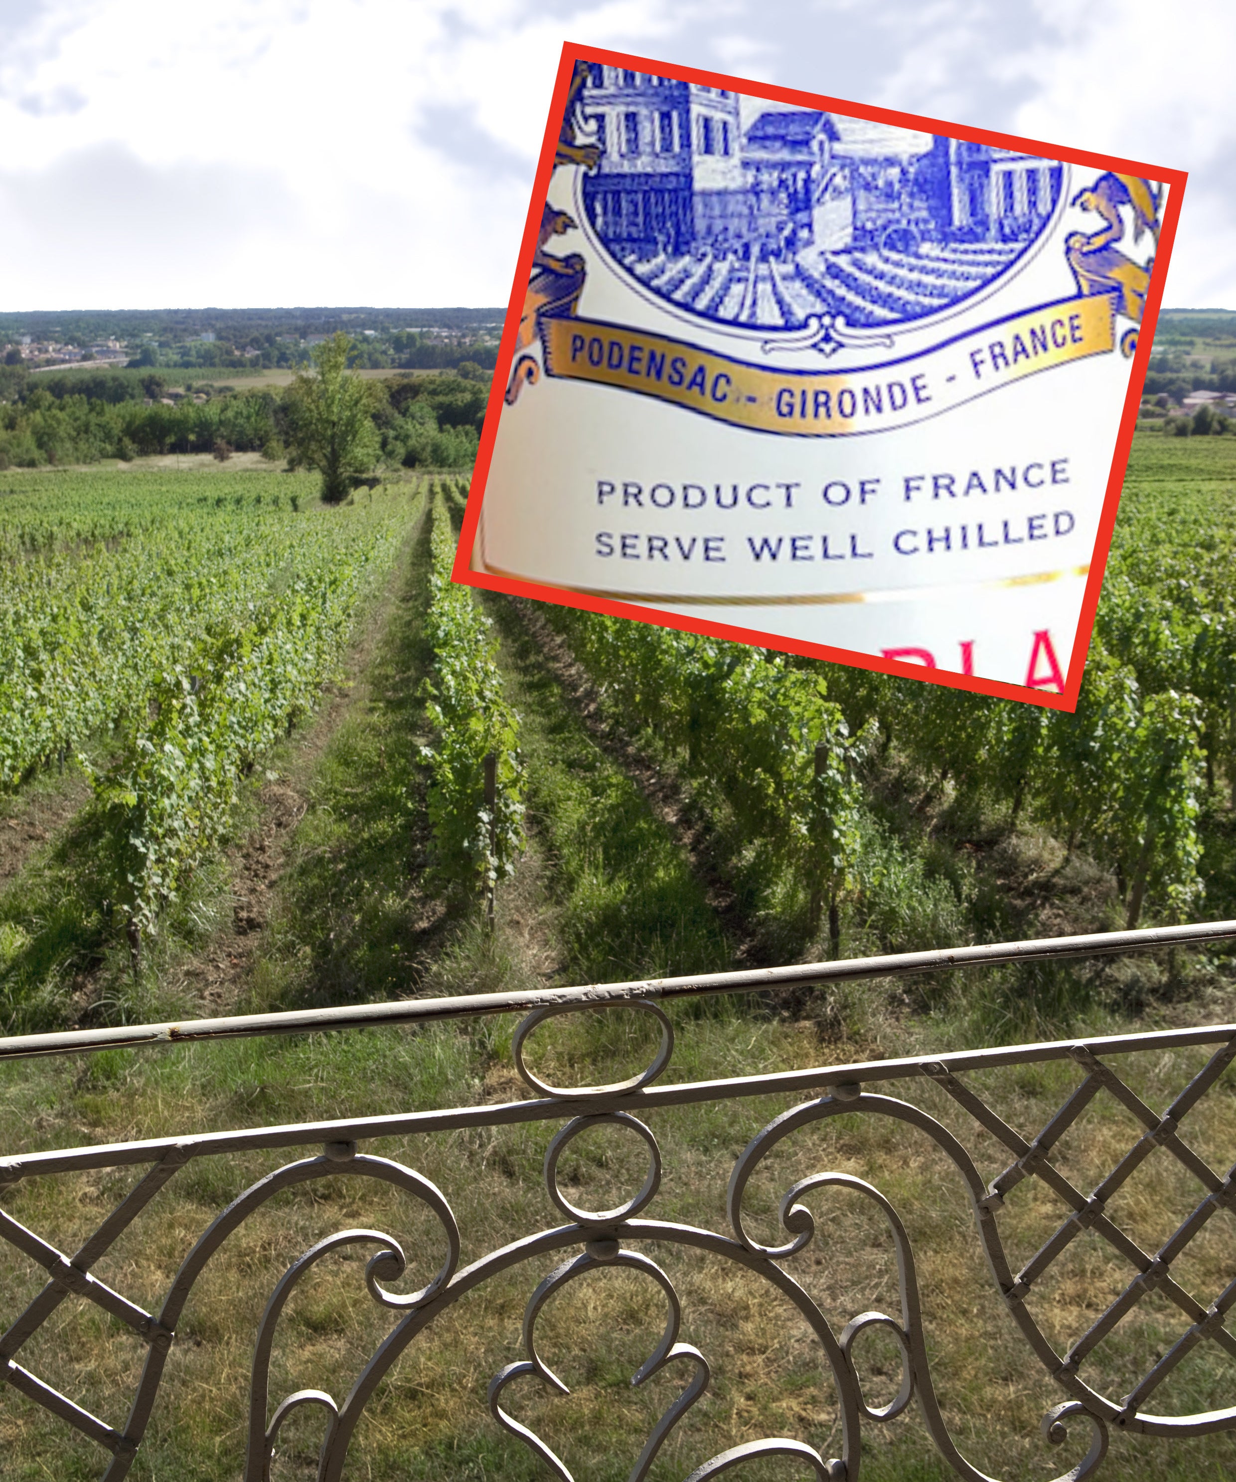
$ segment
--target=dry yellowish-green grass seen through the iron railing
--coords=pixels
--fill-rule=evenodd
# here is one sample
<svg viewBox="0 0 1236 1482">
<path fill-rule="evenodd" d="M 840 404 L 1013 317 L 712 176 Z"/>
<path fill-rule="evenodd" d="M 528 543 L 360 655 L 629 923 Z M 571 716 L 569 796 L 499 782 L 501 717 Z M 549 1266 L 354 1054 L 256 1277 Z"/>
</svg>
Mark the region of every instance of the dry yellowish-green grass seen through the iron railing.
<svg viewBox="0 0 1236 1482">
<path fill-rule="evenodd" d="M 510 1026 L 507 1026 L 507 1030 Z M 692 1074 L 734 1069 L 737 1030 L 745 1067 L 806 1064 L 821 1058 L 811 1036 L 775 1020 L 694 1018 L 680 1024 Z M 575 1079 L 612 1073 L 614 1027 L 588 1036 L 581 1024 L 547 1029 L 538 1066 Z M 510 1095 L 496 1037 L 448 1030 L 384 1031 L 301 1045 L 213 1046 L 209 1054 L 172 1052 L 141 1063 L 102 1063 L 6 1076 L 6 1146 L 64 1146 L 74 1140 L 141 1137 L 209 1125 L 282 1120 L 285 1116 L 365 1112 L 390 1104 Z M 630 1049 L 631 1046 L 625 1046 Z M 1120 1073 L 1154 1107 L 1165 1106 L 1200 1063 L 1199 1054 L 1125 1057 Z M 98 1061 L 95 1063 L 99 1064 Z M 488 1071 L 488 1074 L 486 1074 Z M 41 1091 L 40 1091 L 41 1079 Z M 1033 1134 L 1079 1079 L 1074 1067 L 1036 1067 L 974 1077 L 984 1097 L 1015 1126 Z M 925 1106 L 963 1137 L 986 1178 L 1008 1156 L 929 1083 L 892 1088 Z M 34 1103 L 43 1100 L 41 1120 Z M 665 1177 L 649 1217 L 725 1230 L 725 1186 L 747 1138 L 785 1104 L 784 1098 L 720 1103 L 651 1114 L 664 1153 Z M 247 1113 L 247 1114 L 246 1114 Z M 25 1129 L 19 1137 L 19 1125 Z M 1189 1141 L 1226 1172 L 1236 1150 L 1232 1077 L 1215 1088 L 1186 1123 Z M 33 1128 L 33 1132 L 31 1132 Z M 390 1140 L 373 1149 L 418 1168 L 449 1197 L 462 1232 L 464 1261 L 535 1229 L 559 1223 L 539 1178 L 551 1126 Z M 1061 1143 L 1058 1165 L 1080 1187 L 1092 1187 L 1140 1128 L 1100 1094 Z M 136 1226 L 98 1264 L 96 1275 L 130 1300 L 153 1306 L 212 1215 L 240 1189 L 286 1159 L 203 1159 L 176 1175 Z M 1060 1399 L 996 1298 L 956 1171 L 919 1132 L 880 1117 L 846 1114 L 805 1128 L 762 1165 L 748 1192 L 750 1229 L 775 1233 L 780 1194 L 796 1178 L 823 1168 L 877 1184 L 901 1212 L 916 1251 L 934 1380 L 954 1438 L 971 1460 L 1002 1478 L 1042 1478 L 1067 1470 L 1037 1436 L 1043 1411 Z M 605 1208 L 633 1190 L 643 1152 L 630 1135 L 597 1131 L 572 1144 L 562 1186 L 572 1202 Z M 71 1251 L 113 1206 L 132 1175 L 87 1174 L 40 1178 L 4 1197 L 16 1218 Z M 1143 1248 L 1154 1249 L 1200 1197 L 1200 1189 L 1171 1154 L 1159 1150 L 1113 1200 L 1117 1223 Z M 870 1307 L 898 1310 L 892 1245 L 882 1217 L 857 1194 L 828 1192 L 808 1200 L 817 1237 L 787 1269 L 820 1301 L 834 1329 Z M 1012 1192 L 1000 1232 L 1014 1266 L 1061 1223 L 1060 1200 L 1039 1181 Z M 279 1196 L 249 1220 L 212 1261 L 188 1304 L 156 1418 L 136 1476 L 233 1478 L 245 1443 L 249 1349 L 265 1297 L 288 1263 L 330 1230 L 365 1226 L 396 1236 L 409 1252 L 399 1283 L 412 1289 L 440 1260 L 440 1236 L 413 1202 L 379 1184 L 336 1177 Z M 825 1452 L 839 1446 L 836 1402 L 821 1356 L 802 1319 L 750 1273 L 700 1251 L 659 1243 L 646 1248 L 671 1275 L 683 1306 L 683 1341 L 713 1366 L 713 1384 L 670 1438 L 654 1476 L 680 1478 L 704 1457 L 742 1439 L 796 1435 Z M 317 1267 L 289 1304 L 276 1346 L 273 1399 L 292 1389 L 323 1387 L 339 1396 L 390 1328 L 363 1286 L 368 1252 L 345 1252 Z M 495 1277 L 448 1312 L 405 1355 L 369 1406 L 354 1443 L 353 1476 L 535 1478 L 538 1463 L 494 1426 L 485 1386 L 502 1363 L 523 1358 L 519 1325 L 536 1282 L 556 1264 L 544 1257 Z M 1217 1215 L 1177 1272 L 1203 1303 L 1236 1270 L 1236 1220 Z M 33 1267 L 12 1251 L 0 1266 L 4 1317 L 39 1289 Z M 1132 1275 L 1094 1235 L 1083 1235 L 1029 1298 L 1057 1346 L 1076 1340 Z M 640 1273 L 590 1273 L 556 1295 L 539 1326 L 545 1362 L 571 1386 L 550 1396 L 535 1380 L 507 1392 L 507 1408 L 566 1458 L 577 1482 L 625 1476 L 643 1436 L 686 1380 L 671 1366 L 639 1390 L 630 1375 L 652 1352 L 665 1320 L 664 1297 Z M 1147 1298 L 1085 1365 L 1103 1393 L 1122 1395 L 1186 1326 L 1162 1298 Z M 860 1363 L 871 1402 L 897 1387 L 889 1346 L 864 1340 Z M 136 1380 L 141 1344 L 96 1309 L 68 1300 L 22 1350 L 21 1360 L 80 1403 L 113 1423 L 123 1420 Z M 1232 1402 L 1233 1366 L 1214 1344 L 1181 1366 L 1154 1409 L 1181 1412 Z M 319 1421 L 310 1414 L 289 1427 L 276 1476 L 311 1475 Z M 1154 1475 L 1218 1476 L 1233 1460 L 1230 1438 L 1175 1442 L 1116 1439 L 1113 1475 L 1146 1458 Z M 1080 1455 L 1066 1445 L 1069 1464 Z M 98 1475 L 99 1452 L 70 1439 L 64 1427 L 12 1390 L 0 1409 L 0 1443 L 10 1476 Z M 935 1475 L 931 1443 L 910 1415 L 886 1430 L 868 1427 L 874 1476 Z M 1123 1460 L 1120 1460 L 1123 1457 Z M 766 1476 L 793 1470 L 769 1466 Z M 757 1467 L 751 1478 L 760 1478 Z"/>
</svg>

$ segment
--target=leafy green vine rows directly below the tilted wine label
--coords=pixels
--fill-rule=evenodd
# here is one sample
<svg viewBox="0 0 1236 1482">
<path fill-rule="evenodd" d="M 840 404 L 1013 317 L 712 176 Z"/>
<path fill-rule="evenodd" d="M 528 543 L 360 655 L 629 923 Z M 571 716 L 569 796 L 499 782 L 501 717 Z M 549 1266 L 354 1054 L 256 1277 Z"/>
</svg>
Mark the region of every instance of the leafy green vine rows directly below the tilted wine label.
<svg viewBox="0 0 1236 1482">
<path fill-rule="evenodd" d="M 937 787 L 951 777 L 1083 843 L 1120 886 L 1178 917 L 1200 897 L 1205 707 L 1146 694 L 1097 639 L 1074 716 L 828 667 L 622 619 L 551 609 L 614 713 L 652 732 L 714 821 L 828 907 L 863 895 L 864 796 L 894 741 Z M 825 677 L 827 674 L 827 677 Z"/>
</svg>

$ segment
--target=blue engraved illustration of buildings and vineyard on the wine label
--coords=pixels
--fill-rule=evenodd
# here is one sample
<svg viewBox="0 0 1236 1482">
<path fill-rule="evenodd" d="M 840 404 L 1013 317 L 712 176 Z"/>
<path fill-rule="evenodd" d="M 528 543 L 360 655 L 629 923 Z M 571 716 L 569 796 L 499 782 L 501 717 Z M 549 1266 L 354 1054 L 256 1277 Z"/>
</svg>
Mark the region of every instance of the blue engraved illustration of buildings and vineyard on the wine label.
<svg viewBox="0 0 1236 1482">
<path fill-rule="evenodd" d="M 596 62 L 578 83 L 582 205 L 609 255 L 766 348 L 827 353 L 962 304 L 1029 252 L 1063 188 L 1057 162 L 1012 150 Z"/>
</svg>

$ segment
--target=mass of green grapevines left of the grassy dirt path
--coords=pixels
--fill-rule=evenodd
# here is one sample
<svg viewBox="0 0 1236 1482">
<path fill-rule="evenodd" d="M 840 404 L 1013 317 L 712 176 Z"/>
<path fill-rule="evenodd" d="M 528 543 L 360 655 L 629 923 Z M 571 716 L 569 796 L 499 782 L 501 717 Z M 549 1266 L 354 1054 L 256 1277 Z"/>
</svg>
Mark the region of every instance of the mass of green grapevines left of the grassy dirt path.
<svg viewBox="0 0 1236 1482">
<path fill-rule="evenodd" d="M 298 516 L 283 489 L 209 488 L 169 498 L 151 480 L 82 517 L 70 504 L 58 538 L 4 510 L 0 781 L 110 729 L 108 762 L 80 760 L 138 934 L 224 837 L 240 778 L 314 707 L 406 529 L 399 495 Z"/>
</svg>

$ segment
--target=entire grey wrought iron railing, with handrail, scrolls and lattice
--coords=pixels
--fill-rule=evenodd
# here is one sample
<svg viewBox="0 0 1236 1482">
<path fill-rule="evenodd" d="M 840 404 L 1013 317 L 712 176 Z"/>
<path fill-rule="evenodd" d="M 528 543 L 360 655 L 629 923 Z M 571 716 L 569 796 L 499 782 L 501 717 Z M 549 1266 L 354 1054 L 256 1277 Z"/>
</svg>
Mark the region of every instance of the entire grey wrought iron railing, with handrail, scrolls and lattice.
<svg viewBox="0 0 1236 1482">
<path fill-rule="evenodd" d="M 98 1169 L 136 1169 L 141 1177 L 116 1208 L 73 1254 L 27 1229 L 0 1209 L 0 1236 L 46 1273 L 46 1283 L 25 1306 L 0 1338 L 0 1363 L 7 1383 L 53 1417 L 73 1427 L 104 1452 L 104 1475 L 119 1482 L 133 1464 L 147 1432 L 165 1374 L 178 1323 L 194 1283 L 207 1269 L 224 1242 L 273 1196 L 293 1186 L 328 1177 L 382 1181 L 402 1190 L 430 1211 L 440 1227 L 445 1258 L 437 1273 L 416 1292 L 390 1289 L 405 1272 L 405 1251 L 388 1235 L 372 1229 L 347 1229 L 329 1235 L 304 1251 L 288 1266 L 261 1319 L 252 1362 L 249 1433 L 245 1478 L 258 1482 L 270 1476 L 271 1457 L 280 1430 L 295 1411 L 316 1408 L 323 1412 L 325 1435 L 320 1445 L 320 1479 L 342 1475 L 348 1446 L 366 1403 L 391 1366 L 443 1313 L 464 1294 L 474 1291 L 501 1272 L 526 1266 L 534 1286 L 523 1319 L 523 1356 L 494 1374 L 489 1383 L 489 1409 L 494 1421 L 519 1438 L 557 1478 L 569 1479 L 565 1463 L 529 1427 L 504 1408 L 508 1393 L 529 1378 L 565 1393 L 566 1386 L 547 1368 L 536 1349 L 536 1319 L 548 1298 L 587 1272 L 621 1269 L 643 1273 L 664 1294 L 667 1320 L 655 1352 L 637 1369 L 631 1383 L 642 1384 L 661 1369 L 676 1366 L 685 1387 L 655 1423 L 630 1473 L 640 1482 L 671 1430 L 710 1386 L 710 1365 L 704 1353 L 679 1340 L 682 1309 L 676 1288 L 662 1266 L 642 1246 L 694 1248 L 723 1263 L 734 1263 L 775 1288 L 797 1310 L 806 1329 L 820 1346 L 820 1355 L 836 1386 L 840 1445 L 839 1455 L 827 1458 L 803 1439 L 778 1436 L 747 1441 L 722 1451 L 691 1472 L 688 1482 L 704 1482 L 757 1457 L 787 1457 L 817 1478 L 854 1479 L 863 1451 L 863 1432 L 868 1424 L 885 1424 L 916 1400 L 928 1432 L 941 1455 L 966 1479 L 983 1482 L 984 1473 L 968 1463 L 954 1445 L 941 1414 L 928 1349 L 923 1337 L 919 1276 L 906 1226 L 889 1199 L 871 1183 L 846 1172 L 818 1171 L 797 1180 L 780 1200 L 783 1237 L 771 1243 L 757 1239 L 744 1214 L 744 1192 L 771 1150 L 800 1129 L 839 1114 L 892 1119 L 917 1128 L 951 1163 L 974 1218 L 974 1230 L 986 1257 L 994 1297 L 1012 1317 L 1026 1340 L 1029 1353 L 1042 1365 L 1061 1392 L 1060 1403 L 1043 1417 L 1043 1435 L 1060 1442 L 1067 1424 L 1088 1427 L 1089 1449 L 1069 1479 L 1089 1476 L 1103 1461 L 1109 1427 L 1131 1433 L 1186 1436 L 1236 1429 L 1236 1405 L 1200 1414 L 1160 1414 L 1153 1409 L 1159 1387 L 1181 1360 L 1200 1344 L 1217 1344 L 1236 1358 L 1236 1337 L 1226 1326 L 1226 1316 L 1236 1306 L 1236 1270 L 1218 1291 L 1192 1291 L 1178 1279 L 1183 1252 L 1208 1221 L 1236 1215 L 1236 1166 L 1211 1166 L 1187 1135 L 1186 1123 L 1195 1109 L 1220 1086 L 1220 1077 L 1236 1058 L 1236 1026 L 1175 1029 L 1159 1033 L 1119 1034 L 1103 1039 L 1061 1040 L 1058 1043 L 1017 1045 L 983 1051 L 944 1054 L 931 1058 L 880 1060 L 864 1064 L 824 1066 L 788 1070 L 780 1074 L 744 1076 L 726 1080 L 662 1083 L 671 1063 L 674 1030 L 665 1005 L 680 997 L 711 993 L 750 993 L 802 986 L 820 986 L 855 978 L 876 978 L 910 972 L 940 971 L 975 963 L 1015 962 L 1042 957 L 1094 956 L 1172 947 L 1236 937 L 1236 922 L 1184 926 L 1159 931 L 1122 932 L 1101 937 L 1055 938 L 1012 943 L 996 947 L 969 947 L 951 951 L 911 953 L 897 957 L 871 957 L 849 962 L 814 963 L 762 972 L 719 974 L 648 983 L 603 984 L 582 988 L 541 990 L 511 994 L 483 994 L 452 999 L 422 999 L 400 1003 L 365 1005 L 347 1009 L 320 1009 L 298 1014 L 249 1015 L 203 1020 L 185 1024 L 119 1027 L 67 1031 L 61 1034 L 21 1036 L 0 1040 L 0 1058 L 46 1054 L 84 1054 L 119 1045 L 141 1046 L 167 1042 L 236 1037 L 240 1034 L 299 1033 L 307 1030 L 348 1029 L 375 1024 L 408 1024 L 433 1020 L 461 1020 L 479 1015 L 523 1012 L 511 1052 L 514 1069 L 531 1098 L 502 1104 L 461 1106 L 431 1112 L 391 1113 L 362 1119 L 311 1122 L 290 1126 L 264 1126 L 231 1132 L 200 1132 L 110 1146 L 84 1146 L 53 1152 L 16 1153 L 0 1159 L 0 1192 L 12 1192 L 24 1180 L 67 1175 Z M 534 1073 L 525 1060 L 529 1034 L 547 1018 L 581 1009 L 634 1006 L 659 1029 L 661 1042 L 651 1064 L 628 1080 L 597 1086 L 554 1086 Z M 1125 1076 L 1112 1069 L 1113 1057 L 1162 1057 L 1168 1051 L 1202 1048 L 1209 1052 L 1205 1064 L 1157 1110 L 1132 1089 Z M 1026 1067 L 1064 1063 L 1076 1067 L 1074 1083 L 1058 1110 L 1037 1132 L 1023 1132 L 1009 1125 L 975 1089 L 975 1073 L 996 1067 Z M 1123 1064 L 1123 1061 L 1122 1061 Z M 1132 1064 L 1132 1061 L 1131 1061 Z M 984 1180 L 962 1138 L 944 1122 L 910 1100 L 888 1094 L 895 1082 L 923 1080 L 940 1088 L 963 1114 L 963 1125 L 981 1129 L 1006 1150 L 1008 1163 L 997 1177 Z M 802 1100 L 771 1120 L 745 1147 L 734 1165 L 726 1194 L 729 1230 L 719 1233 L 689 1224 L 655 1218 L 649 1211 L 661 1181 L 661 1153 L 645 1117 L 664 1107 L 691 1103 L 717 1103 L 768 1094 L 790 1094 Z M 1101 1181 L 1092 1187 L 1076 1184 L 1054 1160 L 1061 1138 L 1077 1123 L 1095 1098 L 1113 1098 L 1131 1113 L 1140 1131 Z M 544 1157 L 544 1186 L 562 1223 L 528 1235 L 461 1266 L 461 1235 L 451 1203 L 443 1192 L 411 1166 L 372 1156 L 362 1144 L 375 1138 L 511 1126 L 516 1123 L 560 1123 L 548 1141 Z M 559 1163 L 568 1146 L 591 1128 L 612 1128 L 633 1134 L 646 1144 L 648 1174 L 643 1186 L 625 1202 L 611 1209 L 577 1208 L 562 1187 Z M 136 1221 L 154 1196 L 178 1172 L 202 1159 L 256 1150 L 293 1150 L 316 1147 L 311 1156 L 296 1157 L 267 1174 L 224 1208 L 206 1227 L 172 1280 L 162 1304 L 147 1310 L 122 1291 L 96 1279 L 92 1267 Z M 1236 1150 L 1233 1150 L 1236 1152 Z M 1157 1248 L 1146 1249 L 1113 1218 L 1113 1196 L 1147 1159 L 1171 1159 L 1187 1175 L 1195 1196 L 1186 1218 Z M 1055 1196 L 1061 1218 L 1055 1232 L 1030 1260 L 1014 1269 L 1000 1232 L 1000 1215 L 1008 1194 L 1021 1183 L 1036 1180 Z M 825 1320 L 815 1300 L 794 1275 L 794 1261 L 815 1240 L 815 1220 L 802 1202 L 817 1190 L 846 1190 L 870 1202 L 886 1221 L 895 1249 L 900 1304 L 894 1313 L 863 1312 L 840 1332 Z M 1079 1332 L 1071 1344 L 1060 1349 L 1049 1341 L 1031 1313 L 1027 1297 L 1066 1248 L 1083 1232 L 1092 1232 L 1126 1267 L 1126 1282 L 1119 1295 Z M 296 1285 L 323 1257 L 348 1246 L 372 1249 L 365 1280 L 373 1303 L 390 1312 L 390 1331 L 363 1365 L 351 1392 L 336 1399 L 323 1390 L 302 1389 L 282 1398 L 271 1408 L 270 1363 L 276 1331 L 285 1304 Z M 551 1266 L 547 1275 L 545 1267 Z M 1104 1393 L 1088 1381 L 1086 1360 L 1113 1332 L 1116 1325 L 1149 1294 L 1166 1298 L 1183 1315 L 1184 1328 L 1174 1344 L 1122 1395 Z M 47 1323 L 70 1295 L 83 1298 L 117 1319 L 123 1329 L 145 1346 L 145 1359 L 127 1421 L 111 1426 L 73 1398 L 61 1393 L 19 1362 L 21 1350 Z M 854 1347 L 870 1329 L 891 1335 L 900 1350 L 901 1383 L 891 1402 L 877 1406 L 864 1396 Z M 117 1341 L 122 1341 L 117 1338 Z M 1236 1396 L 1233 1396 L 1236 1399 Z M 790 1469 L 793 1470 L 793 1467 Z M 787 1472 L 787 1475 L 790 1475 Z"/>
</svg>

